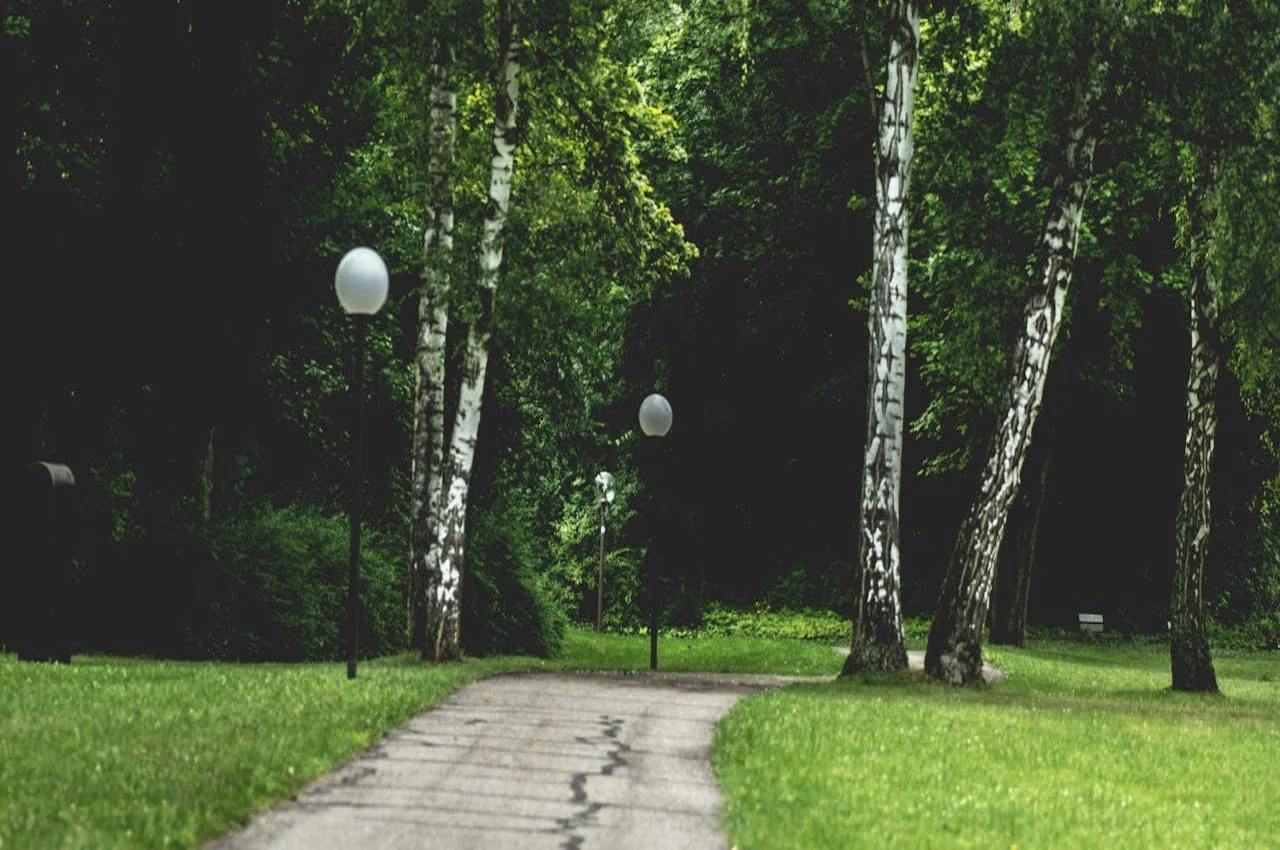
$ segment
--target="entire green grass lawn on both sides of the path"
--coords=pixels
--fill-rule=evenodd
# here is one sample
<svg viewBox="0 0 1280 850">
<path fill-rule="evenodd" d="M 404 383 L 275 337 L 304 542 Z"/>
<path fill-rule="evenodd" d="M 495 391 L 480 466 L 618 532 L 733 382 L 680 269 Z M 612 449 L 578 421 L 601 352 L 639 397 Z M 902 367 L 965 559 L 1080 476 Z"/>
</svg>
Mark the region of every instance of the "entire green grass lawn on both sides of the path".
<svg viewBox="0 0 1280 850">
<path fill-rule="evenodd" d="M 645 670 L 648 640 L 571 630 L 554 662 L 424 667 L 0 655 L 0 847 L 187 847 L 294 794 L 476 677 Z M 744 847 L 1276 846 L 1280 658 L 1217 659 L 1226 699 L 1167 691 L 1167 653 L 1043 644 L 1009 681 L 801 685 L 745 700 L 716 763 Z M 829 675 L 820 644 L 663 639 L 664 671 Z"/>
</svg>

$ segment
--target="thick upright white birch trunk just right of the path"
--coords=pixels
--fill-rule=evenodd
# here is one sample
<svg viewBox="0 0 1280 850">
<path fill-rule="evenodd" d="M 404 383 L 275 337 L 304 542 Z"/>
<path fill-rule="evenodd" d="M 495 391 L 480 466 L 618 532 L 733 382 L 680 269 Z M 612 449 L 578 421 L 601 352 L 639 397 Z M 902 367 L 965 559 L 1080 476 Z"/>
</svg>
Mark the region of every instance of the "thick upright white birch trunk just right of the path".
<svg viewBox="0 0 1280 850">
<path fill-rule="evenodd" d="M 899 593 L 899 494 L 906 392 L 908 193 L 920 42 L 915 0 L 890 4 L 888 70 L 876 159 L 874 292 L 869 316 L 867 445 L 854 643 L 842 675 L 906 667 Z"/>
</svg>

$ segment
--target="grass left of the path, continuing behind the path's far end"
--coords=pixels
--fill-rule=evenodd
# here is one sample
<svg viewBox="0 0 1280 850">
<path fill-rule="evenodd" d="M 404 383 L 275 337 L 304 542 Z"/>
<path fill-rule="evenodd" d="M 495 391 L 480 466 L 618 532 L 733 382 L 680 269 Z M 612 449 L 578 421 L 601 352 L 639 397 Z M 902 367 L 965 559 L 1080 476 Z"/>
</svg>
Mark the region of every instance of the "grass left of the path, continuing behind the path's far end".
<svg viewBox="0 0 1280 850">
<path fill-rule="evenodd" d="M 571 630 L 554 662 L 424 666 L 229 664 L 0 655 L 0 849 L 191 847 L 296 794 L 415 713 L 481 676 L 648 670 L 639 636 Z M 660 644 L 664 671 L 835 675 L 840 658 L 795 640 Z"/>
</svg>

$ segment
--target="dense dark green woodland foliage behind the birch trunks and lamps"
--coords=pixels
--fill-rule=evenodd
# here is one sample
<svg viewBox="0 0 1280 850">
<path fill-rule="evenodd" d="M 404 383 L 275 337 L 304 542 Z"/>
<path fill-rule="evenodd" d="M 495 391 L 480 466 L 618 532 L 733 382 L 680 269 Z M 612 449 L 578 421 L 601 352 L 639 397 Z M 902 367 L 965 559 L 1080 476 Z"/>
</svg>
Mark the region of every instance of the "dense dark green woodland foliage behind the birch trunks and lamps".
<svg viewBox="0 0 1280 850">
<path fill-rule="evenodd" d="M 1265 639 L 1280 617 L 1280 24 L 1262 1 L 1128 4 L 1121 38 L 1110 6 L 924 9 L 904 608 L 933 608 L 1064 93 L 1084 47 L 1110 38 L 1097 177 L 1036 435 L 1055 463 L 1032 620 L 1167 620 L 1185 221 L 1210 150 L 1228 367 L 1207 597 L 1220 626 Z M 428 45 L 457 47 L 452 367 L 476 311 L 494 17 L 484 0 L 0 6 L 0 207 L 17 211 L 0 238 L 24 284 L 4 465 L 77 474 L 78 646 L 340 652 L 355 406 L 332 275 L 357 243 L 392 271 L 369 351 L 365 645 L 401 645 Z M 852 0 L 530 0 L 527 18 L 463 640 L 552 653 L 566 620 L 594 620 L 600 469 L 620 489 L 611 629 L 646 622 L 650 552 L 673 626 L 719 627 L 723 609 L 756 603 L 847 614 L 881 15 Z M 676 413 L 662 461 L 635 431 L 655 389 Z M 9 622 L 0 611 L 0 641 Z"/>
</svg>

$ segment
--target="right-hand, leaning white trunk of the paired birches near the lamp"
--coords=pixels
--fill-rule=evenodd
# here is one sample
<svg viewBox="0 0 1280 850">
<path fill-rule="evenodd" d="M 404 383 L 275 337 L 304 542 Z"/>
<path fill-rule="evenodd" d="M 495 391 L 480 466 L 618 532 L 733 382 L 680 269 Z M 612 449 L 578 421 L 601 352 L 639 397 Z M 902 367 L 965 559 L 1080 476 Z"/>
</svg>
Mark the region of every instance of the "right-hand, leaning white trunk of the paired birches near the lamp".
<svg viewBox="0 0 1280 850">
<path fill-rule="evenodd" d="M 453 420 L 449 457 L 444 471 L 449 483 L 438 539 L 440 545 L 436 604 L 440 620 L 428 634 L 436 659 L 457 658 L 462 649 L 462 557 L 466 550 L 467 492 L 480 433 L 480 403 L 489 365 L 489 334 L 498 270 L 502 266 L 502 232 L 511 201 L 511 175 L 516 152 L 516 105 L 520 97 L 520 36 L 517 22 L 521 0 L 502 0 L 498 41 L 498 78 L 494 81 L 493 159 L 489 166 L 489 206 L 480 237 L 480 314 L 467 329 L 467 349 L 462 364 L 458 412 Z"/>
</svg>

